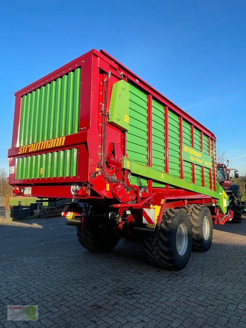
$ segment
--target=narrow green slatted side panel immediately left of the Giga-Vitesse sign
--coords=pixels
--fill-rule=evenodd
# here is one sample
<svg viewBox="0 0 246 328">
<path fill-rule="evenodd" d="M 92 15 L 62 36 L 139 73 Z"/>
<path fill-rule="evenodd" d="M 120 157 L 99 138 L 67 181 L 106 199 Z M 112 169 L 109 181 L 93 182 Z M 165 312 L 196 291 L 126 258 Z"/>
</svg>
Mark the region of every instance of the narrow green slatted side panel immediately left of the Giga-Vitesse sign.
<svg viewBox="0 0 246 328">
<path fill-rule="evenodd" d="M 180 177 L 179 118 L 168 111 L 169 174 Z"/>
</svg>

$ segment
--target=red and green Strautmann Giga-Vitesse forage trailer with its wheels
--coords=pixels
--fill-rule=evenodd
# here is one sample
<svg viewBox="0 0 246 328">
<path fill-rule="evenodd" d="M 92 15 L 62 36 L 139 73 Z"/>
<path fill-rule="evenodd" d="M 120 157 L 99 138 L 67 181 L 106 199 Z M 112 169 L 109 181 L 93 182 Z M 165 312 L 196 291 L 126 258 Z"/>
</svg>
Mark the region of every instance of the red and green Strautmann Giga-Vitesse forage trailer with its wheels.
<svg viewBox="0 0 246 328">
<path fill-rule="evenodd" d="M 72 198 L 80 244 L 110 251 L 141 236 L 179 270 L 233 220 L 217 183 L 215 136 L 107 52 L 95 49 L 15 93 L 14 194 Z"/>
</svg>

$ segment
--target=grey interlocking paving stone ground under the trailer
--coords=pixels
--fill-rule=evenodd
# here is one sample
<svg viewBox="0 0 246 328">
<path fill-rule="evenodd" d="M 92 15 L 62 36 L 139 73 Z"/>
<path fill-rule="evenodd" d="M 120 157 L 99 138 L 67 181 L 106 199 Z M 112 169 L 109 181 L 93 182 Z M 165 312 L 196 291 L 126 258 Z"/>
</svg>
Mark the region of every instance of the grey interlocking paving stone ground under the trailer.
<svg viewBox="0 0 246 328">
<path fill-rule="evenodd" d="M 151 266 L 140 242 L 83 249 L 64 218 L 0 223 L 0 327 L 246 327 L 246 219 L 214 226 L 185 269 Z M 37 304 L 38 321 L 7 321 Z"/>
</svg>

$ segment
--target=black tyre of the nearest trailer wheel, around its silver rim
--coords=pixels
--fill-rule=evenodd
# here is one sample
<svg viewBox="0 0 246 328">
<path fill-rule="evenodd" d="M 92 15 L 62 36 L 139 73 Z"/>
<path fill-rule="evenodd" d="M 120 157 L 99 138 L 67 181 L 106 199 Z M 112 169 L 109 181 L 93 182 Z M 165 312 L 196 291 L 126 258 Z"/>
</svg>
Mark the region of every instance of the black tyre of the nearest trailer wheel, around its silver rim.
<svg viewBox="0 0 246 328">
<path fill-rule="evenodd" d="M 186 248 L 178 252 L 177 232 L 184 229 Z M 184 240 L 184 239 L 183 239 Z M 148 260 L 154 265 L 170 270 L 181 270 L 189 261 L 192 250 L 192 227 L 188 215 L 180 210 L 164 210 L 154 237 L 145 237 L 143 249 Z"/>
</svg>

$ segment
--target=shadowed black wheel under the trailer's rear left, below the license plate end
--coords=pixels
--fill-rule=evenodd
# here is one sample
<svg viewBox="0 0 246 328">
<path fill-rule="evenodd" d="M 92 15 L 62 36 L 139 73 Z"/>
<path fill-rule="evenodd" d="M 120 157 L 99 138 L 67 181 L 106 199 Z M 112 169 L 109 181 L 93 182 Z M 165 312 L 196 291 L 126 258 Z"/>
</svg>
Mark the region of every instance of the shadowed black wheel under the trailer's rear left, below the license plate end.
<svg viewBox="0 0 246 328">
<path fill-rule="evenodd" d="M 92 252 L 109 252 L 119 242 L 110 226 L 98 226 L 92 222 L 84 228 L 77 227 L 77 237 L 80 244 Z"/>
</svg>

